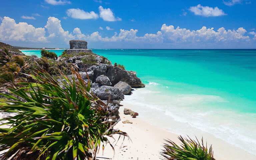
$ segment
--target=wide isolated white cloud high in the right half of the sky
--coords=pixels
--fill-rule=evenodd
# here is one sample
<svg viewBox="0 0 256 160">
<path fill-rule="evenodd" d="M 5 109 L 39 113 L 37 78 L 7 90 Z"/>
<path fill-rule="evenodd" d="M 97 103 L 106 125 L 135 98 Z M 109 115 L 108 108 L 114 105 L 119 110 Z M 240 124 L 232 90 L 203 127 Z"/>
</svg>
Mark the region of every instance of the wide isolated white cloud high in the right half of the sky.
<svg viewBox="0 0 256 160">
<path fill-rule="evenodd" d="M 200 4 L 190 7 L 189 10 L 195 15 L 204 17 L 217 17 L 227 15 L 222 9 L 219 9 L 218 7 L 212 8 L 209 6 L 201 6 Z"/>
</svg>

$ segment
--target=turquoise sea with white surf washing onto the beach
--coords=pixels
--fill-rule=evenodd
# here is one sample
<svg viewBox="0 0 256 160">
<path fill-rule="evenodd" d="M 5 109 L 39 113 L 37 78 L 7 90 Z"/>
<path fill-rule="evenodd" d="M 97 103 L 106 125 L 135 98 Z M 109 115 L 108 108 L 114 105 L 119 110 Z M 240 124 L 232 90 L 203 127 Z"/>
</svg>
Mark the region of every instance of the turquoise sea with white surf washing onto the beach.
<svg viewBox="0 0 256 160">
<path fill-rule="evenodd" d="M 40 56 L 37 50 L 22 52 Z M 256 155 L 256 50 L 93 52 L 137 72 L 146 87 L 125 102 L 142 119 L 177 134 L 204 136 L 213 147 L 227 142 Z"/>
</svg>

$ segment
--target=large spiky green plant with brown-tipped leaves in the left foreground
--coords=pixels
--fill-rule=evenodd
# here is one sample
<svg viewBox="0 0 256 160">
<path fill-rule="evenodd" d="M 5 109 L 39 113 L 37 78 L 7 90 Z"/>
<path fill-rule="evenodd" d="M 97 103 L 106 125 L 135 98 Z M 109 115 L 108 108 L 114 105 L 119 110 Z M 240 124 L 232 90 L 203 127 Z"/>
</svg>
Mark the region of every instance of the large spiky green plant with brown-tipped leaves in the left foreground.
<svg viewBox="0 0 256 160">
<path fill-rule="evenodd" d="M 103 142 L 110 144 L 108 137 L 127 136 L 113 128 L 119 117 L 111 117 L 109 107 L 90 92 L 90 82 L 70 69 L 73 79 L 60 73 L 56 80 L 34 68 L 27 76 L 35 83 L 9 88 L 16 98 L 1 94 L 9 101 L 0 101 L 0 111 L 11 113 L 0 120 L 6 126 L 0 128 L 1 160 L 96 160 Z"/>
</svg>

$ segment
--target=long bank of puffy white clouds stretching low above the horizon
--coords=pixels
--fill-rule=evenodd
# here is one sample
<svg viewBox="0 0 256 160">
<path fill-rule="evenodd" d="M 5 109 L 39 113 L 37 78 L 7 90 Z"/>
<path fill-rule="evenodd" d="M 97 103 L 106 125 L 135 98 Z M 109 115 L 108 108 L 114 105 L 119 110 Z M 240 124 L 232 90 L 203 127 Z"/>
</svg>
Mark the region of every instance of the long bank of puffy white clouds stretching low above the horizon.
<svg viewBox="0 0 256 160">
<path fill-rule="evenodd" d="M 103 29 L 102 27 L 100 29 Z M 106 26 L 107 30 L 112 30 Z M 211 43 L 229 44 L 229 43 L 255 43 L 256 33 L 250 32 L 254 38 L 246 36 L 247 32 L 243 27 L 236 30 L 226 30 L 224 27 L 217 29 L 207 28 L 203 26 L 198 30 L 189 30 L 186 28 L 174 27 L 173 25 L 163 24 L 160 31 L 156 33 L 146 33 L 144 36 L 137 36 L 137 29 L 124 30 L 111 37 L 103 37 L 98 31 L 92 34 L 82 33 L 80 28 L 74 28 L 72 32 L 65 31 L 61 26 L 61 21 L 55 17 L 49 17 L 44 27 L 35 28 L 25 22 L 16 23 L 14 19 L 4 17 L 0 25 L 0 40 L 1 41 L 25 41 L 25 42 L 40 42 L 68 44 L 69 40 L 82 39 L 89 42 L 131 42 L 131 43 L 148 43 L 167 45 L 180 44 L 203 44 Z M 48 33 L 48 36 L 46 36 Z"/>
</svg>

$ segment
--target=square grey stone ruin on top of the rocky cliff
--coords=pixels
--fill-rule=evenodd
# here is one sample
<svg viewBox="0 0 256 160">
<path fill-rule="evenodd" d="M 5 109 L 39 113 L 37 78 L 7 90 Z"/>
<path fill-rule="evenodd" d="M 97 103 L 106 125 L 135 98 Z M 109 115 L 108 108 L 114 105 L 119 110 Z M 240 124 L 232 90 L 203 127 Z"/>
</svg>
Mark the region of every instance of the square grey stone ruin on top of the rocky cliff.
<svg viewBox="0 0 256 160">
<path fill-rule="evenodd" d="M 92 52 L 91 49 L 87 49 L 87 41 L 84 40 L 71 40 L 69 41 L 70 49 L 65 50 L 67 54 L 71 54 L 73 52 L 79 53 L 79 52 Z"/>
</svg>

